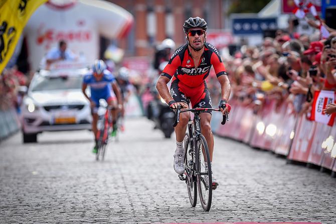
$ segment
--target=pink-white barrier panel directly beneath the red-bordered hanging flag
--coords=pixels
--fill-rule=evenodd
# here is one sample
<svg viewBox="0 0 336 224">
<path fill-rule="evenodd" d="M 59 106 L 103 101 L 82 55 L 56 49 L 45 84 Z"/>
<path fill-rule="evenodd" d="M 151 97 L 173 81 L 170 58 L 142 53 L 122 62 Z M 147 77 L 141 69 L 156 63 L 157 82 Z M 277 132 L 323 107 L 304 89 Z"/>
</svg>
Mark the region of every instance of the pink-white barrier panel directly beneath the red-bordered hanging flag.
<svg viewBox="0 0 336 224">
<path fill-rule="evenodd" d="M 311 143 L 311 150 L 309 152 L 308 163 L 320 166 L 322 163 L 322 156 L 325 151 L 325 142 L 327 141 L 331 132 L 331 127 L 322 123 L 316 124 L 313 141 Z M 332 140 L 333 143 L 333 140 Z M 331 143 L 331 147 L 332 147 Z"/>
</svg>

